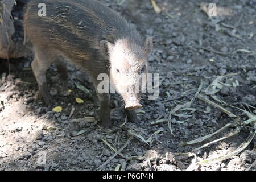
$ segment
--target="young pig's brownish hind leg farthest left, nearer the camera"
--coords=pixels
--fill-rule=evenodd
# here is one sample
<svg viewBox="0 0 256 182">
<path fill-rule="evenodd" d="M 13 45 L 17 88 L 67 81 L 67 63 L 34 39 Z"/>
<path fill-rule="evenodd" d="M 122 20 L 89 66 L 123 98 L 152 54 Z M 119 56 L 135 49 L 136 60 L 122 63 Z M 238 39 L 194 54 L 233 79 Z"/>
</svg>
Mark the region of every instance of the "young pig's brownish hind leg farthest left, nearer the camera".
<svg viewBox="0 0 256 182">
<path fill-rule="evenodd" d="M 46 51 L 43 48 L 35 47 L 35 59 L 31 63 L 32 71 L 34 72 L 36 81 L 39 86 L 39 94 L 43 97 L 44 102 L 51 104 L 51 95 L 46 81 L 46 71 L 50 67 L 51 63 L 55 60 L 55 56 Z M 47 52 L 47 53 L 46 53 Z"/>
</svg>

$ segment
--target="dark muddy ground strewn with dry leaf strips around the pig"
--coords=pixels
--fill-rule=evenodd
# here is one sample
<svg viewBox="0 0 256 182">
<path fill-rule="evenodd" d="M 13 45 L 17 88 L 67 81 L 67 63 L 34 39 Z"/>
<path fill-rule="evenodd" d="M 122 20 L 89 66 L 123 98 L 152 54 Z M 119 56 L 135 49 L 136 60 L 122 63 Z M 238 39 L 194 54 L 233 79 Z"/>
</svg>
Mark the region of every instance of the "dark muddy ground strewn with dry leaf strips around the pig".
<svg viewBox="0 0 256 182">
<path fill-rule="evenodd" d="M 249 117 L 231 106 L 256 114 L 256 55 L 248 52 L 256 50 L 256 1 L 204 1 L 214 2 L 223 10 L 213 20 L 200 9 L 201 1 L 196 0 L 156 1 L 161 14 L 155 13 L 147 0 L 126 0 L 121 5 L 118 2 L 122 1 L 101 1 L 135 24 L 142 35 L 154 37 L 149 63 L 150 72 L 159 73 L 159 98 L 147 100 L 145 96 L 143 109 L 138 112 L 141 121 L 129 123 L 125 122 L 119 96 L 113 95 L 115 126 L 100 129 L 97 122 L 88 122 L 88 118 L 74 122 L 85 117 L 98 119 L 96 92 L 86 73 L 69 65 L 67 88 L 59 80 L 56 68 L 49 69 L 47 78 L 55 106 L 63 107 L 61 113 L 55 113 L 53 107 L 36 99 L 38 88 L 30 69 L 32 56 L 10 60 L 11 74 L 7 60 L 0 60 L 0 170 L 255 170 L 256 137 L 240 154 L 216 164 L 191 166 L 195 162 L 193 156 L 175 155 L 191 152 L 237 128 L 229 127 L 199 144 L 181 144 L 236 122 L 217 107 L 195 98 L 192 109 L 172 115 L 172 133 L 166 120 L 175 106 L 195 97 L 201 82 L 204 84 L 200 94 L 205 96 L 205 89 L 221 75 L 225 75 L 222 82 L 233 80 L 232 84 L 214 94 L 217 100 L 206 98 L 242 121 Z M 82 92 L 75 82 L 91 94 Z M 84 103 L 78 104 L 77 97 Z M 71 115 L 72 108 L 75 110 Z M 159 120 L 163 122 L 152 125 Z M 247 125 L 238 134 L 194 152 L 196 160 L 236 150 L 250 131 L 254 129 Z M 152 137 L 146 143 L 138 135 L 145 140 Z M 108 159 L 111 160 L 105 163 Z"/>
</svg>

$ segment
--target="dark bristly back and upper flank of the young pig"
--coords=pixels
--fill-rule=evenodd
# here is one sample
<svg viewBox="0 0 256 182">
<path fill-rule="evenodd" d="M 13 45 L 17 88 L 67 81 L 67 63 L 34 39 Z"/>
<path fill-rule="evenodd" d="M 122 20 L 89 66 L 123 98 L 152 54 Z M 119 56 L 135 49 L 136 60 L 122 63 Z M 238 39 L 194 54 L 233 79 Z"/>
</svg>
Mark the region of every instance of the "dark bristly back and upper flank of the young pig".
<svg viewBox="0 0 256 182">
<path fill-rule="evenodd" d="M 46 17 L 38 16 L 39 3 L 46 4 Z M 125 19 L 94 0 L 33 0 L 27 5 L 24 28 L 32 43 L 81 57 L 82 52 L 96 56 L 100 40 L 114 42 L 136 35 Z"/>
</svg>

